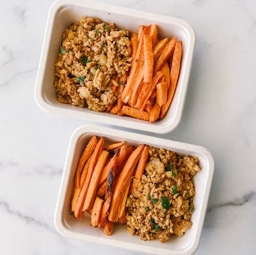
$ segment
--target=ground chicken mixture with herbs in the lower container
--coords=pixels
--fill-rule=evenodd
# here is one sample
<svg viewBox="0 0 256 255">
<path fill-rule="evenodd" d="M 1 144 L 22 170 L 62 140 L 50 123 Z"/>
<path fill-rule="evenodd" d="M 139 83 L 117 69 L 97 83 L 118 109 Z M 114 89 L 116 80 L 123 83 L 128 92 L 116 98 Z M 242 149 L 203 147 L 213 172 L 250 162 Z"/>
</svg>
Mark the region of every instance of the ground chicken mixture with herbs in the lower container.
<svg viewBox="0 0 256 255">
<path fill-rule="evenodd" d="M 149 161 L 138 189 L 127 199 L 127 229 L 141 240 L 166 242 L 192 226 L 197 157 L 149 147 Z"/>
</svg>

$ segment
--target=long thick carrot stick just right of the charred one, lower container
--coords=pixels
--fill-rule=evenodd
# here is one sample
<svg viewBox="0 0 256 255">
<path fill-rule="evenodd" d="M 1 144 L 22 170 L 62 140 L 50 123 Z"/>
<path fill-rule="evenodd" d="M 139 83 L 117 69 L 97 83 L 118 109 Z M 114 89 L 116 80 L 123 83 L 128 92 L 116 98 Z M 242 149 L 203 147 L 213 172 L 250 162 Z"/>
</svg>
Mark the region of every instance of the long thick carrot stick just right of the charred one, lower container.
<svg viewBox="0 0 256 255">
<path fill-rule="evenodd" d="M 136 164 L 138 163 L 138 160 L 141 156 L 143 147 L 144 147 L 143 145 L 140 145 L 138 146 L 138 148 L 136 148 L 132 152 L 131 156 L 128 158 L 127 162 L 125 163 L 125 166 L 116 182 L 114 193 L 113 193 L 113 199 L 111 202 L 109 215 L 108 215 L 108 219 L 113 222 L 116 222 L 118 220 L 120 203 L 122 202 L 122 198 L 124 196 L 127 183 L 129 183 L 130 178 L 134 173 Z"/>
</svg>

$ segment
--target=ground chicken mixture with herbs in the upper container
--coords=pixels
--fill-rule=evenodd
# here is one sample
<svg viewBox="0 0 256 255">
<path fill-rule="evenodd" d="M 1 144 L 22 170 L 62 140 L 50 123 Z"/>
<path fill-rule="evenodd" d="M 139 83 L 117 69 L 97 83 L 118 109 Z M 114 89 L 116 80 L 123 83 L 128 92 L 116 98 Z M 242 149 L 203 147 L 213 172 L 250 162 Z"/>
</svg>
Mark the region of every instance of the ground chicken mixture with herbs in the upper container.
<svg viewBox="0 0 256 255">
<path fill-rule="evenodd" d="M 54 70 L 58 101 L 104 111 L 116 100 L 111 79 L 124 75 L 130 61 L 129 31 L 83 17 L 62 36 Z"/>
</svg>

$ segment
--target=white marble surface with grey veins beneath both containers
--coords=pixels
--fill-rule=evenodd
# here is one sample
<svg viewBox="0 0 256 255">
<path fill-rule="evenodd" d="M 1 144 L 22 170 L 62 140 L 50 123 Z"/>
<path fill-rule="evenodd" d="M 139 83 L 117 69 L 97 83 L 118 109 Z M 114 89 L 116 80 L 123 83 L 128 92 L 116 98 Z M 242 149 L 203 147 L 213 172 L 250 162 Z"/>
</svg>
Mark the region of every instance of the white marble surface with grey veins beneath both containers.
<svg viewBox="0 0 256 255">
<path fill-rule="evenodd" d="M 180 17 L 195 28 L 182 122 L 159 137 L 205 146 L 216 163 L 195 254 L 256 254 L 256 2 L 104 3 Z M 0 2 L 1 254 L 138 254 L 68 240 L 54 228 L 68 140 L 84 121 L 47 114 L 33 97 L 51 4 Z"/>
</svg>

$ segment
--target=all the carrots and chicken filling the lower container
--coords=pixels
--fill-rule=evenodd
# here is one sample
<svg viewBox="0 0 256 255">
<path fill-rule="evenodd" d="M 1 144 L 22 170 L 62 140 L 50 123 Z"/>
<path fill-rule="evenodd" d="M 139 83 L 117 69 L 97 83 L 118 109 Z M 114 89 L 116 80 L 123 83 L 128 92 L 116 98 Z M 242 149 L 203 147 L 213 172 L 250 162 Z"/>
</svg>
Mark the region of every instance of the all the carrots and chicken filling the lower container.
<svg viewBox="0 0 256 255">
<path fill-rule="evenodd" d="M 145 144 L 105 142 L 93 135 L 79 159 L 74 216 L 81 220 L 89 213 L 92 226 L 106 235 L 119 221 L 141 240 L 166 242 L 171 235 L 183 236 L 192 226 L 198 158 Z"/>
</svg>

